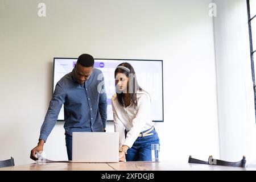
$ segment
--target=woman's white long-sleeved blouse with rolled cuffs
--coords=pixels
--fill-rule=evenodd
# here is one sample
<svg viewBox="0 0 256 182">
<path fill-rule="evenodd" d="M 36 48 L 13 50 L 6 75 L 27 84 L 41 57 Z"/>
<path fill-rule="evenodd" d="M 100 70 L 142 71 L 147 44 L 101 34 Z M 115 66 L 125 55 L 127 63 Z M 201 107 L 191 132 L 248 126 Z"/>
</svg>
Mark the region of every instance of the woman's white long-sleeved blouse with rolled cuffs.
<svg viewBox="0 0 256 182">
<path fill-rule="evenodd" d="M 112 96 L 114 130 L 119 133 L 119 146 L 126 145 L 131 148 L 142 131 L 154 126 L 151 119 L 150 95 L 138 90 L 137 103 L 137 106 L 123 107 L 117 100 L 117 94 Z M 126 138 L 125 129 L 128 131 Z"/>
</svg>

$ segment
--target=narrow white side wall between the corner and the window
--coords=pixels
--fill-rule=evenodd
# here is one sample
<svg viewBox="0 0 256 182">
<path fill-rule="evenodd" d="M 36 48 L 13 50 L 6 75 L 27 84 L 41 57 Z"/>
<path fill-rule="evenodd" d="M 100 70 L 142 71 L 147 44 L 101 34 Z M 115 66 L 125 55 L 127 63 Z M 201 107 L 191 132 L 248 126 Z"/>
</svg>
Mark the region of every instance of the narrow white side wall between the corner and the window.
<svg viewBox="0 0 256 182">
<path fill-rule="evenodd" d="M 246 1 L 213 2 L 220 156 L 250 161 L 256 158 L 256 133 Z"/>
</svg>

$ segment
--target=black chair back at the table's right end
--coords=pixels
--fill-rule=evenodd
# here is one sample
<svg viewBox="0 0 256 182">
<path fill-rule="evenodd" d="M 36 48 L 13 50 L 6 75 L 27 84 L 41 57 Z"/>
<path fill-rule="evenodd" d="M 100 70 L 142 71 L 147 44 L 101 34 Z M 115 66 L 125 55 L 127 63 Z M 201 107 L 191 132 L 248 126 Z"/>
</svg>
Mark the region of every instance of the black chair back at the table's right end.
<svg viewBox="0 0 256 182">
<path fill-rule="evenodd" d="M 227 162 L 225 160 L 218 160 L 213 159 L 212 155 L 209 156 L 208 161 L 199 160 L 192 158 L 191 155 L 189 155 L 188 163 L 194 163 L 194 164 L 209 164 L 209 165 L 218 165 L 218 166 L 230 166 L 230 167 L 245 167 L 246 159 L 245 156 L 243 156 L 242 160 L 238 162 Z"/>
</svg>

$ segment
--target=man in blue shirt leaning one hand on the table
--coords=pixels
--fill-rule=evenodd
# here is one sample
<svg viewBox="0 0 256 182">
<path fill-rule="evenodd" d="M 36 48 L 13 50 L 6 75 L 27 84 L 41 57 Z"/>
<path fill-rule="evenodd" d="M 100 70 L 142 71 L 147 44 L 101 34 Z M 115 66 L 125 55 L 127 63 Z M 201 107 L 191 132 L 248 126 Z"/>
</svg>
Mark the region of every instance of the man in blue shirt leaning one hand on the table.
<svg viewBox="0 0 256 182">
<path fill-rule="evenodd" d="M 108 102 L 104 76 L 93 65 L 93 57 L 82 54 L 73 71 L 57 82 L 41 127 L 38 146 L 31 150 L 31 159 L 38 160 L 36 152 L 43 151 L 63 104 L 68 160 L 72 160 L 72 132 L 106 131 Z"/>
</svg>

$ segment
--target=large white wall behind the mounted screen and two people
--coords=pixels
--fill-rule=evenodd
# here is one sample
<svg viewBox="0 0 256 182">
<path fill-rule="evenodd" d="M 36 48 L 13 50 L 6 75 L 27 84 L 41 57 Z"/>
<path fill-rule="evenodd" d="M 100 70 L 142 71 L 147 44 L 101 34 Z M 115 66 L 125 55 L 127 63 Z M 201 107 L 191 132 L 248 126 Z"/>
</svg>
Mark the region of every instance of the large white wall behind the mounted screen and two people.
<svg viewBox="0 0 256 182">
<path fill-rule="evenodd" d="M 38 3 L 47 7 L 39 18 Z M 52 89 L 53 57 L 163 59 L 160 160 L 219 156 L 210 0 L 0 0 L 0 160 L 31 163 Z M 108 123 L 113 131 L 113 123 Z M 66 160 L 63 123 L 45 145 Z"/>
</svg>

